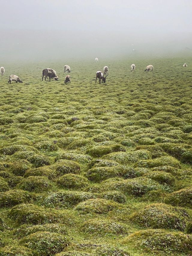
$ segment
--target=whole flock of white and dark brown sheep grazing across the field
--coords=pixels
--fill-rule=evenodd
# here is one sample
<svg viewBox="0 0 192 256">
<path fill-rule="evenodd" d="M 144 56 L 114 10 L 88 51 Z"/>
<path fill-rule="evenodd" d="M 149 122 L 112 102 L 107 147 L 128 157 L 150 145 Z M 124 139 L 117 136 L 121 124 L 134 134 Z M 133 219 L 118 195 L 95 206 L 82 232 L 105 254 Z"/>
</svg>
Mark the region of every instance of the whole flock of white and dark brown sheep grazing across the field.
<svg viewBox="0 0 192 256">
<path fill-rule="evenodd" d="M 98 58 L 95 58 L 95 62 L 99 62 Z M 186 68 L 187 67 L 187 64 L 184 63 L 183 64 L 183 67 Z M 131 71 L 135 71 L 135 64 L 132 64 L 131 65 Z M 69 65 L 64 65 L 64 73 L 70 73 L 70 66 Z M 145 69 L 145 71 L 153 71 L 153 65 L 148 65 Z M 4 67 L 1 67 L 0 68 L 0 72 L 1 72 L 1 76 L 4 76 L 4 72 L 5 72 L 5 69 Z M 104 77 L 104 75 L 106 75 Z M 102 80 L 102 83 L 105 83 L 106 82 L 106 77 L 109 75 L 109 68 L 107 66 L 104 66 L 103 68 L 103 73 L 101 71 L 97 71 L 96 72 L 96 80 L 95 80 L 95 83 L 97 83 L 97 79 L 99 79 L 99 83 L 101 84 L 101 80 Z M 46 78 L 49 77 L 49 82 L 51 81 L 51 78 L 56 81 L 58 81 L 58 76 L 56 74 L 56 71 L 54 69 L 51 69 L 51 68 L 44 68 L 44 70 L 42 71 L 42 81 L 43 81 L 43 78 L 45 77 L 45 81 L 46 81 Z M 9 81 L 8 83 L 10 84 L 12 81 L 15 81 L 16 83 L 19 82 L 19 83 L 22 83 L 22 80 L 16 76 L 16 75 L 10 75 L 9 76 Z M 70 78 L 70 75 L 66 75 L 65 76 L 65 80 L 64 80 L 64 83 L 70 83 L 71 82 L 71 78 Z"/>
</svg>

